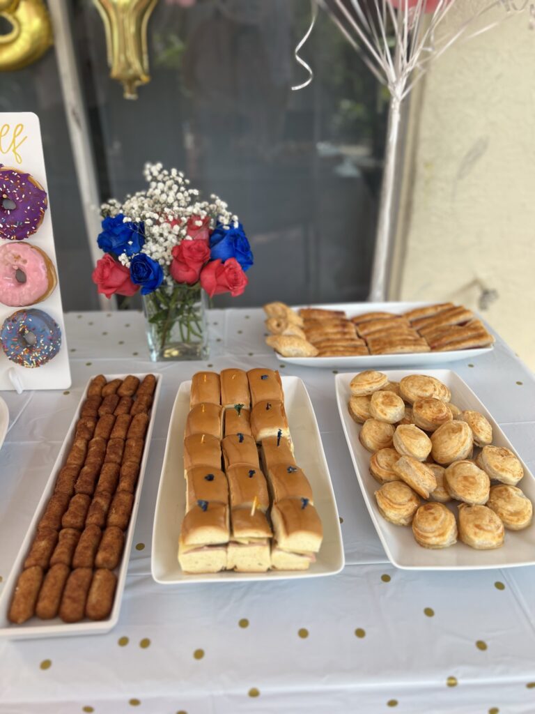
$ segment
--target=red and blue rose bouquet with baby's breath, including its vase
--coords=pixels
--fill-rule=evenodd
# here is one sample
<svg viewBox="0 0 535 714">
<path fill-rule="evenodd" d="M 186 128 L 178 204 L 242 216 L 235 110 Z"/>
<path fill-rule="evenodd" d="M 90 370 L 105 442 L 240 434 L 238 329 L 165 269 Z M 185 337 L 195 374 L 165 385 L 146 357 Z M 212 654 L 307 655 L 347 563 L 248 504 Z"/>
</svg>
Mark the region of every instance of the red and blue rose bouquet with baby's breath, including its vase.
<svg viewBox="0 0 535 714">
<path fill-rule="evenodd" d="M 238 216 L 218 196 L 199 192 L 176 169 L 146 164 L 146 191 L 101 206 L 103 231 L 96 263 L 98 292 L 132 296 L 141 290 L 151 359 L 208 356 L 205 296 L 241 295 L 253 253 Z"/>
</svg>

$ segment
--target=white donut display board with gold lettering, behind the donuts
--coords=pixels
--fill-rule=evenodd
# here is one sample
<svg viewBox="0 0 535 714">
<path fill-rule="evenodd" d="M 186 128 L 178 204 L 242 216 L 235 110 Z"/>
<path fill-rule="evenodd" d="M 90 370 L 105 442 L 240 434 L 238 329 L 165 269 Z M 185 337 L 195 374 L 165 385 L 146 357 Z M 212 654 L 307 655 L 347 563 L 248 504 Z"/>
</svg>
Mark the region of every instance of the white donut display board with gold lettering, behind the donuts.
<svg viewBox="0 0 535 714">
<path fill-rule="evenodd" d="M 35 233 L 24 240 L 0 238 L 0 249 L 1 246 L 5 244 L 16 247 L 24 243 L 29 243 L 31 246 L 40 248 L 54 264 L 57 275 L 58 263 L 56 260 L 56 248 L 54 247 L 50 196 L 48 196 L 46 182 L 41 127 L 36 114 L 31 112 L 0 112 L 0 164 L 3 164 L 6 169 L 15 169 L 16 171 L 21 171 L 22 174 L 30 174 L 31 177 L 44 188 L 48 199 L 48 206 L 44 213 L 43 221 Z M 13 208 L 13 206 L 16 205 L 14 201 L 11 201 L 9 196 L 7 196 L 4 186 L 4 181 L 0 181 L 0 220 L 6 221 L 6 216 L 8 217 L 7 219 L 11 216 L 11 220 L 14 220 L 14 213 L 6 213 L 6 211 L 4 211 L 4 208 Z M 4 196 L 4 193 L 6 193 L 6 196 Z M 22 195 L 25 194 L 23 193 Z M 4 205 L 5 201 L 7 201 L 7 203 Z M 25 225 L 22 222 L 20 222 L 20 224 Z M 3 226 L 0 226 L 0 229 L 2 227 Z M 6 271 L 6 269 L 14 270 L 13 266 L 8 268 L 5 263 L 2 264 L 0 261 L 0 281 L 3 271 Z M 24 271 L 17 270 L 16 273 L 16 281 L 19 281 L 19 283 L 31 279 L 26 276 Z M 35 304 L 11 307 L 0 301 L 0 329 L 4 326 L 6 318 L 9 318 L 14 312 L 34 309 L 43 311 L 57 323 L 61 330 L 61 346 L 54 357 L 37 367 L 25 367 L 10 360 L 6 356 L 4 347 L 0 346 L 0 390 L 14 390 L 15 388 L 18 391 L 29 389 L 66 389 L 71 386 L 71 368 L 68 363 L 68 347 L 65 335 L 65 324 L 63 321 L 59 276 L 56 287 L 51 291 L 49 296 Z M 17 333 L 14 333 L 15 336 L 16 334 Z M 19 336 L 19 340 L 21 339 L 25 340 L 25 344 L 28 344 L 28 350 L 31 351 L 32 344 L 36 343 L 34 333 L 30 331 L 30 333 L 27 333 L 26 338 Z"/>
</svg>

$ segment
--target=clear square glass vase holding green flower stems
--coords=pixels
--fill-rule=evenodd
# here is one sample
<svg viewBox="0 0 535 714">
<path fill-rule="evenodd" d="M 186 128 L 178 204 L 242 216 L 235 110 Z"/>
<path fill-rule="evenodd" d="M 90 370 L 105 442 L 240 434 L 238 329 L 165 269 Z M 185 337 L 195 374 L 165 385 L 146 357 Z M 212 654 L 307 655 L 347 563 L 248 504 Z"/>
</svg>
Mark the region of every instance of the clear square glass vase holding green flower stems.
<svg viewBox="0 0 535 714">
<path fill-rule="evenodd" d="M 208 357 L 206 299 L 199 283 L 165 284 L 143 296 L 148 349 L 153 362 Z"/>
</svg>

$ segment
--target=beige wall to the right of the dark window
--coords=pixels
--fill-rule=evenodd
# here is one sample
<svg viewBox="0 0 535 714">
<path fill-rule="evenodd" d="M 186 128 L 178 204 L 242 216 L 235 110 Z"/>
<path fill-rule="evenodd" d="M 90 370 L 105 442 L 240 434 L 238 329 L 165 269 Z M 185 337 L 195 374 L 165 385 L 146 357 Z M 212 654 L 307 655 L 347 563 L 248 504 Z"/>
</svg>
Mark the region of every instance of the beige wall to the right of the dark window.
<svg viewBox="0 0 535 714">
<path fill-rule="evenodd" d="M 458 5 L 457 13 L 467 14 L 477 2 Z M 499 293 L 482 315 L 535 369 L 535 30 L 529 16 L 450 48 L 414 97 L 409 126 L 413 163 L 390 296 L 479 309 L 479 279 Z"/>
</svg>

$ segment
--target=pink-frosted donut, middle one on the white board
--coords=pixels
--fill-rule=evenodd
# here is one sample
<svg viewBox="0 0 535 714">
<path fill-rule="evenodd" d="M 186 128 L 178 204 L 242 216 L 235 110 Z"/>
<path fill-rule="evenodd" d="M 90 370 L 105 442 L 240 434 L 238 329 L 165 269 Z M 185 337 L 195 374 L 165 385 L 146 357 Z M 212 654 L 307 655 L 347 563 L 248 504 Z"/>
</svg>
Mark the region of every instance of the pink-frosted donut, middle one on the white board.
<svg viewBox="0 0 535 714">
<path fill-rule="evenodd" d="M 58 283 L 49 256 L 31 243 L 0 246 L 0 303 L 24 307 L 46 300 Z"/>
</svg>

